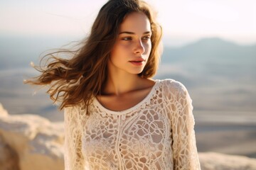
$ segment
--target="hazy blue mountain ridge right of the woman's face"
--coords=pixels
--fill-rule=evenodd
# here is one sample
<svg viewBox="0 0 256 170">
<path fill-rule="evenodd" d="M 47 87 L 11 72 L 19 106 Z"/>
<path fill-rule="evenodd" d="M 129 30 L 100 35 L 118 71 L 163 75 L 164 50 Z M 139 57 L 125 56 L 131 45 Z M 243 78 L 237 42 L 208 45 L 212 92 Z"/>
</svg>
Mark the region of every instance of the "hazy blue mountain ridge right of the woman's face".
<svg viewBox="0 0 256 170">
<path fill-rule="evenodd" d="M 165 47 L 163 63 L 256 64 L 256 44 L 237 45 L 220 38 L 203 38 L 183 47 Z"/>
</svg>

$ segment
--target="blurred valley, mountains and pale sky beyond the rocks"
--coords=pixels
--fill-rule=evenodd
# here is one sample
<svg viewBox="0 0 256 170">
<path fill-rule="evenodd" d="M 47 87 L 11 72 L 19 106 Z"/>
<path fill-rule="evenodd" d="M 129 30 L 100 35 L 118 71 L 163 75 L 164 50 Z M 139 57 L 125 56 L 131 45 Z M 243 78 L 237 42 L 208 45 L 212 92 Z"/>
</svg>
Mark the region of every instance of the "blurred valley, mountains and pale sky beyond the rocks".
<svg viewBox="0 0 256 170">
<path fill-rule="evenodd" d="M 23 84 L 42 52 L 85 38 L 106 0 L 0 0 L 0 103 L 53 122 L 45 89 Z M 154 79 L 176 79 L 193 99 L 199 152 L 256 158 L 256 1 L 150 0 L 164 29 Z"/>
</svg>

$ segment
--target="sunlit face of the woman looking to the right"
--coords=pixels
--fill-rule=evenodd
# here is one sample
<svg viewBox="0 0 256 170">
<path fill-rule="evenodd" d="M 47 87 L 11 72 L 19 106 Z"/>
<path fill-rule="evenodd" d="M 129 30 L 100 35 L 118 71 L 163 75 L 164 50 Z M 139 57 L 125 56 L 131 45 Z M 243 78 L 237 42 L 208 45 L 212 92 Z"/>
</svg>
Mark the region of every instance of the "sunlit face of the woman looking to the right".
<svg viewBox="0 0 256 170">
<path fill-rule="evenodd" d="M 110 72 L 139 74 L 151 52 L 151 26 L 144 13 L 130 13 L 122 22 L 110 54 Z"/>
</svg>

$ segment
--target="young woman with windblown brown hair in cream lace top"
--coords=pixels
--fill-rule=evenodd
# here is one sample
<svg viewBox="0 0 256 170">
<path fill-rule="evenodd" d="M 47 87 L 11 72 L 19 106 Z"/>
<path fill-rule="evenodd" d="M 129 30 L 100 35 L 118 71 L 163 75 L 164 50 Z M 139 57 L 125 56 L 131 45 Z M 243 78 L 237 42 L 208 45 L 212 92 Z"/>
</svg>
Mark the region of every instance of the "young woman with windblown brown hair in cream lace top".
<svg viewBox="0 0 256 170">
<path fill-rule="evenodd" d="M 146 2 L 110 0 L 72 58 L 27 81 L 64 108 L 65 169 L 200 169 L 188 91 L 151 79 L 160 40 Z"/>
</svg>

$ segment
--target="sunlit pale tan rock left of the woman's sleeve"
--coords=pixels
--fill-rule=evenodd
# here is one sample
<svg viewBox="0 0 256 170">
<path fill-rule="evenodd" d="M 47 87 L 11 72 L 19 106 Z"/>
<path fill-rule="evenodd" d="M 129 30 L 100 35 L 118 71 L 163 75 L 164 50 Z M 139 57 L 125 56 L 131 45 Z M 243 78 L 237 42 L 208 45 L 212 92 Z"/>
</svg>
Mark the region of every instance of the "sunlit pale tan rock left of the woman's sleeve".
<svg viewBox="0 0 256 170">
<path fill-rule="evenodd" d="M 64 169 L 63 140 L 63 123 L 0 113 L 0 170 Z"/>
</svg>

